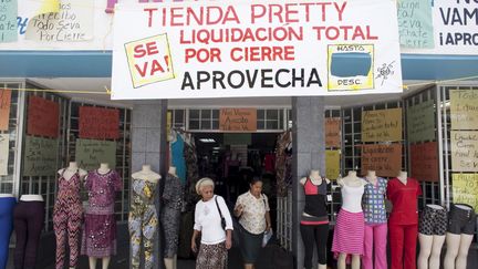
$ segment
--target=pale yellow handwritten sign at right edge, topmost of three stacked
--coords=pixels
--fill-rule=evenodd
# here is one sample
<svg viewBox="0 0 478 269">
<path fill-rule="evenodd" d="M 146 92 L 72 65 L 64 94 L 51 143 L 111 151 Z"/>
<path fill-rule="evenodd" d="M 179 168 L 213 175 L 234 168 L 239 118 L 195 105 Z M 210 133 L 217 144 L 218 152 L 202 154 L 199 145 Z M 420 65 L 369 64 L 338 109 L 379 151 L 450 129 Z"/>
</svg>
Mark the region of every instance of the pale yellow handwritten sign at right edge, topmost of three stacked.
<svg viewBox="0 0 478 269">
<path fill-rule="evenodd" d="M 451 130 L 478 130 L 478 91 L 451 90 Z"/>
</svg>

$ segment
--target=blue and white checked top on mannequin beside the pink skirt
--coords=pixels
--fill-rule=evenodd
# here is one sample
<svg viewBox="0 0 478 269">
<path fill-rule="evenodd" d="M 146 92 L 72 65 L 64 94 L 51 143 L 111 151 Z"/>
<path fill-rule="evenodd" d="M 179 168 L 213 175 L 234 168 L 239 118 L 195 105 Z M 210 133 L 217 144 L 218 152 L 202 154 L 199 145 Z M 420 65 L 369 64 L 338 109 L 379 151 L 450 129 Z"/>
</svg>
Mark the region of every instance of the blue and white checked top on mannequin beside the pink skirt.
<svg viewBox="0 0 478 269">
<path fill-rule="evenodd" d="M 365 214 L 365 224 L 375 225 L 387 223 L 385 211 L 386 187 L 387 180 L 382 177 L 377 177 L 375 185 L 371 182 L 365 185 L 365 190 L 362 198 L 362 207 Z"/>
</svg>

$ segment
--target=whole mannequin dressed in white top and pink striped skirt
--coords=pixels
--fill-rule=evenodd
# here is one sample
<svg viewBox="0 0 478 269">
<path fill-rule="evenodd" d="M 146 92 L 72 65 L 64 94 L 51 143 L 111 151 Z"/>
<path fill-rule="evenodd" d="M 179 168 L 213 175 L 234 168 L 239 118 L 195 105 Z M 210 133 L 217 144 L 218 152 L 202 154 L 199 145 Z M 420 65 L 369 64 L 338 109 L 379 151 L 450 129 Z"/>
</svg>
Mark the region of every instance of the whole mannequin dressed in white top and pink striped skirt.
<svg viewBox="0 0 478 269">
<path fill-rule="evenodd" d="M 342 208 L 337 215 L 332 251 L 335 256 L 339 254 L 339 269 L 345 269 L 347 255 L 352 255 L 352 269 L 360 269 L 365 232 L 361 204 L 367 182 L 351 170 L 346 177 L 339 178 L 337 184 L 342 192 Z"/>
</svg>

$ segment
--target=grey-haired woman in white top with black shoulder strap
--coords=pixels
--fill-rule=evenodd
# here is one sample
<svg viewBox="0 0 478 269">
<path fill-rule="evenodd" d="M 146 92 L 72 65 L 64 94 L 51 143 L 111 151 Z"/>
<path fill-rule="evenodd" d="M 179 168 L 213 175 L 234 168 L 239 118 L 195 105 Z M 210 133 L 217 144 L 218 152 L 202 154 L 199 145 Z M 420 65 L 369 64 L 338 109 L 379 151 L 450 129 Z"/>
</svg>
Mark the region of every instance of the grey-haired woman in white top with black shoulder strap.
<svg viewBox="0 0 478 269">
<path fill-rule="evenodd" d="M 196 269 L 227 268 L 227 250 L 232 245 L 232 219 L 221 196 L 214 194 L 215 184 L 210 178 L 201 178 L 196 184 L 196 193 L 202 198 L 196 204 L 191 249 L 197 252 L 196 238 L 200 235 Z M 222 227 L 221 216 L 226 220 Z"/>
</svg>

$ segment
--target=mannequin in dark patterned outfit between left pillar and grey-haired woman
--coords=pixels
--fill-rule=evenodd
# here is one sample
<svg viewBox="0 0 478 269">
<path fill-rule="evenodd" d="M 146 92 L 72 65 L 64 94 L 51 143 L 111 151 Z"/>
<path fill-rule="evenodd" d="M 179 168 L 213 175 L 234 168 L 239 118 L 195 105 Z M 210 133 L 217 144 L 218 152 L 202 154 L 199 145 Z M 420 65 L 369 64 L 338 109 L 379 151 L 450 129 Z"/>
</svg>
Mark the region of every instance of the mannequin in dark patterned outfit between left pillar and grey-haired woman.
<svg viewBox="0 0 478 269">
<path fill-rule="evenodd" d="M 162 223 L 165 235 L 164 262 L 166 269 L 176 269 L 179 236 L 179 219 L 183 207 L 183 185 L 176 175 L 176 167 L 169 166 L 162 195 Z"/>
</svg>

